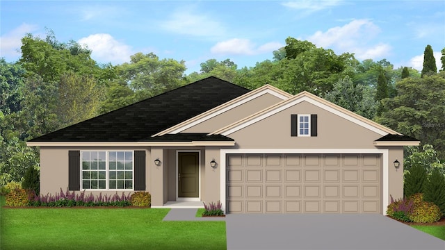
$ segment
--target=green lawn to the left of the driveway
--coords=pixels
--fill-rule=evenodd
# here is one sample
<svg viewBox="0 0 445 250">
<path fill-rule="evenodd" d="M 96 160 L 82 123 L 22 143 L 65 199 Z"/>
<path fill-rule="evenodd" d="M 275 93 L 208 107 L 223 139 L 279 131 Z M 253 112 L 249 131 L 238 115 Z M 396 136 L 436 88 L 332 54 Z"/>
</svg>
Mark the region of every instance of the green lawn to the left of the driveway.
<svg viewBox="0 0 445 250">
<path fill-rule="evenodd" d="M 1 208 L 0 249 L 226 249 L 225 222 L 163 222 L 169 210 Z"/>
</svg>

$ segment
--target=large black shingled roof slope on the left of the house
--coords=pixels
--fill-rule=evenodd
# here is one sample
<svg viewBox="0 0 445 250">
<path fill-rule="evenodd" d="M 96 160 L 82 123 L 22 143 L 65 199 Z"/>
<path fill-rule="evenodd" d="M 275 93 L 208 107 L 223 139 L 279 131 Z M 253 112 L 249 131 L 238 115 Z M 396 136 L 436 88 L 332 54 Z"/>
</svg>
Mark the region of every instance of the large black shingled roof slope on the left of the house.
<svg viewBox="0 0 445 250">
<path fill-rule="evenodd" d="M 133 103 L 124 108 L 62 128 L 29 142 L 155 142 L 232 140 L 202 133 L 151 135 L 186 121 L 211 108 L 250 92 L 216 77 L 204 78 L 181 88 Z"/>
</svg>

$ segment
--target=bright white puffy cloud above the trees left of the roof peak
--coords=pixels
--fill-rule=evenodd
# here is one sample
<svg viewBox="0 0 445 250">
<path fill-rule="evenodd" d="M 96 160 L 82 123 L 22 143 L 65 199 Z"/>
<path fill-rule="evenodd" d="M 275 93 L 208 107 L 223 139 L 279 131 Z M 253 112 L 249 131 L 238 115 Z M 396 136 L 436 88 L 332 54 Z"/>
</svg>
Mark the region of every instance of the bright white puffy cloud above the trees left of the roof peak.
<svg viewBox="0 0 445 250">
<path fill-rule="evenodd" d="M 81 38 L 79 44 L 86 44 L 92 50 L 91 56 L 102 63 L 124 63 L 130 60 L 133 54 L 131 47 L 118 42 L 111 35 L 99 33 Z"/>
</svg>

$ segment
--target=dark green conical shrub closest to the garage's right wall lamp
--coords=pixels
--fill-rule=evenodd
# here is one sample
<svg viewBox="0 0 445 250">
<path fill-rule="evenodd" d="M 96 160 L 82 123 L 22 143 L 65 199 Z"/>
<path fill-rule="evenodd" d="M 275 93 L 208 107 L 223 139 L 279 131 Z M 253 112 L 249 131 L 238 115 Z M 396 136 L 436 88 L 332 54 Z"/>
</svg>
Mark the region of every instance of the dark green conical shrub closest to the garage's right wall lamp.
<svg viewBox="0 0 445 250">
<path fill-rule="evenodd" d="M 412 194 L 422 193 L 426 183 L 426 169 L 422 165 L 414 165 L 410 171 L 405 173 L 403 181 L 403 195 L 410 197 Z"/>
</svg>

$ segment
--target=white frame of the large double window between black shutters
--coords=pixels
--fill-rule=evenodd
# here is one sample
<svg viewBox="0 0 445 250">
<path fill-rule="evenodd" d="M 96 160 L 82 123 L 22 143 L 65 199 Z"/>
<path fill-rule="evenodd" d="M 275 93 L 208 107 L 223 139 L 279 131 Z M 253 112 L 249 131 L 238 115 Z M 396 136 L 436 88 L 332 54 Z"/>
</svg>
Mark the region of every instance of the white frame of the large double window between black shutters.
<svg viewBox="0 0 445 250">
<path fill-rule="evenodd" d="M 97 152 L 105 152 L 105 174 L 106 174 L 106 177 L 105 177 L 105 189 L 100 189 L 100 188 L 97 188 L 97 189 L 92 189 L 92 188 L 83 188 L 83 160 L 82 160 L 82 153 L 83 152 L 92 152 L 92 151 L 97 151 Z M 131 189 L 122 189 L 122 188 L 120 188 L 120 189 L 118 189 L 118 188 L 115 188 L 115 189 L 110 189 L 110 187 L 109 187 L 109 185 L 110 185 L 110 176 L 109 176 L 109 174 L 110 174 L 110 168 L 109 168 L 109 153 L 111 152 L 111 151 L 113 151 L 113 152 L 131 152 L 131 163 L 132 163 L 132 166 L 131 166 Z M 91 169 L 89 169 L 90 171 L 91 171 Z M 98 169 L 99 170 L 99 169 Z M 113 171 L 117 171 L 118 169 L 113 169 Z M 124 170 L 124 172 L 125 172 L 125 169 L 123 169 Z M 104 171 L 104 170 L 102 170 L 102 171 Z M 81 190 L 86 190 L 86 191 L 134 191 L 134 150 L 123 150 L 123 149 L 113 149 L 113 150 L 100 150 L 100 149 L 97 149 L 97 150 L 81 150 L 81 156 L 80 156 L 80 189 Z M 97 184 L 98 186 L 99 186 L 99 184 Z"/>
</svg>

